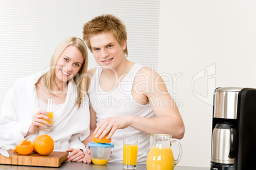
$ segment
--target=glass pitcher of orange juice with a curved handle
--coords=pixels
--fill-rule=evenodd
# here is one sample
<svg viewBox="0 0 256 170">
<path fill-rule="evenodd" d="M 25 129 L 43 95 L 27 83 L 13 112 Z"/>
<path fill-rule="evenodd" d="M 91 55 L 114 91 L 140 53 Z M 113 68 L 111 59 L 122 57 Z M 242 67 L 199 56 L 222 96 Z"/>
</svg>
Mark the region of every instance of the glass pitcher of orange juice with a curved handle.
<svg viewBox="0 0 256 170">
<path fill-rule="evenodd" d="M 171 134 L 152 134 L 152 147 L 146 159 L 147 170 L 173 170 L 181 159 L 182 148 L 178 141 L 171 141 Z M 179 155 L 174 159 L 171 144 L 176 143 L 179 147 Z"/>
</svg>

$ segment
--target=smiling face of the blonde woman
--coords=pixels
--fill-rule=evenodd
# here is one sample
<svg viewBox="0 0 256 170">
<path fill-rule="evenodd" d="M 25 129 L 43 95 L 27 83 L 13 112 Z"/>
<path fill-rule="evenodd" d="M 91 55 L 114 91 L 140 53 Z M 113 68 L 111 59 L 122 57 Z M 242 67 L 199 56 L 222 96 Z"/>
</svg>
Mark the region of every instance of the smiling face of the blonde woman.
<svg viewBox="0 0 256 170">
<path fill-rule="evenodd" d="M 74 46 L 69 45 L 59 57 L 55 67 L 55 81 L 68 82 L 75 77 L 83 65 L 82 53 Z"/>
</svg>

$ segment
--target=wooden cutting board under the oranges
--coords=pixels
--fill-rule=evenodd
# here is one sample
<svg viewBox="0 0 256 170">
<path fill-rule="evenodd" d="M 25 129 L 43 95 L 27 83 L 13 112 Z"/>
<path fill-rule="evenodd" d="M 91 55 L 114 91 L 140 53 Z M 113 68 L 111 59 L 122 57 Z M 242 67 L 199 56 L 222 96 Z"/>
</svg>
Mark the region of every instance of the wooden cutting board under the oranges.
<svg viewBox="0 0 256 170">
<path fill-rule="evenodd" d="M 13 152 L 12 149 L 7 150 L 10 157 L 0 155 L 0 164 L 20 165 L 20 166 L 47 166 L 59 167 L 60 164 L 68 159 L 67 152 L 52 152 L 47 156 L 39 154 L 20 155 Z"/>
</svg>

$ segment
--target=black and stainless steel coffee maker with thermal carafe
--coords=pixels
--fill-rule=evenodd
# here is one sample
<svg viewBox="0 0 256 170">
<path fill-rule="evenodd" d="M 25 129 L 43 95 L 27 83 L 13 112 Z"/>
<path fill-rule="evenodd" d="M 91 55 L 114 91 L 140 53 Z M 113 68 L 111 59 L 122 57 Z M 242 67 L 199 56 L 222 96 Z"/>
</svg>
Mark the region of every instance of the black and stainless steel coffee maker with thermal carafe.
<svg viewBox="0 0 256 170">
<path fill-rule="evenodd" d="M 255 169 L 255 161 L 256 89 L 215 89 L 211 169 Z"/>
</svg>

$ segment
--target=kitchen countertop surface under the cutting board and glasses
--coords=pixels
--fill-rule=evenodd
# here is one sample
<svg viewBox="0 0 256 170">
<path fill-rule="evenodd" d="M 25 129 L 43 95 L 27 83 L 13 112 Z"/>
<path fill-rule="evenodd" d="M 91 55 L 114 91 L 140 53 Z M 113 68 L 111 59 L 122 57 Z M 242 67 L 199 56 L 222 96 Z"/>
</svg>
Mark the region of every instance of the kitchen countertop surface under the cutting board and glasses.
<svg viewBox="0 0 256 170">
<path fill-rule="evenodd" d="M 94 164 L 84 164 L 82 162 L 64 162 L 60 167 L 37 167 L 37 166 L 11 166 L 11 165 L 3 165 L 0 164 L 0 169 L 13 169 L 13 170 L 30 170 L 30 169 L 41 169 L 41 170 L 53 170 L 53 169 L 67 169 L 67 170 L 118 170 L 122 169 L 122 163 L 108 163 L 106 166 L 98 166 Z M 138 170 L 146 170 L 146 164 L 138 164 Z M 174 170 L 209 170 L 210 167 L 185 167 L 185 166 L 176 166 Z"/>
</svg>

